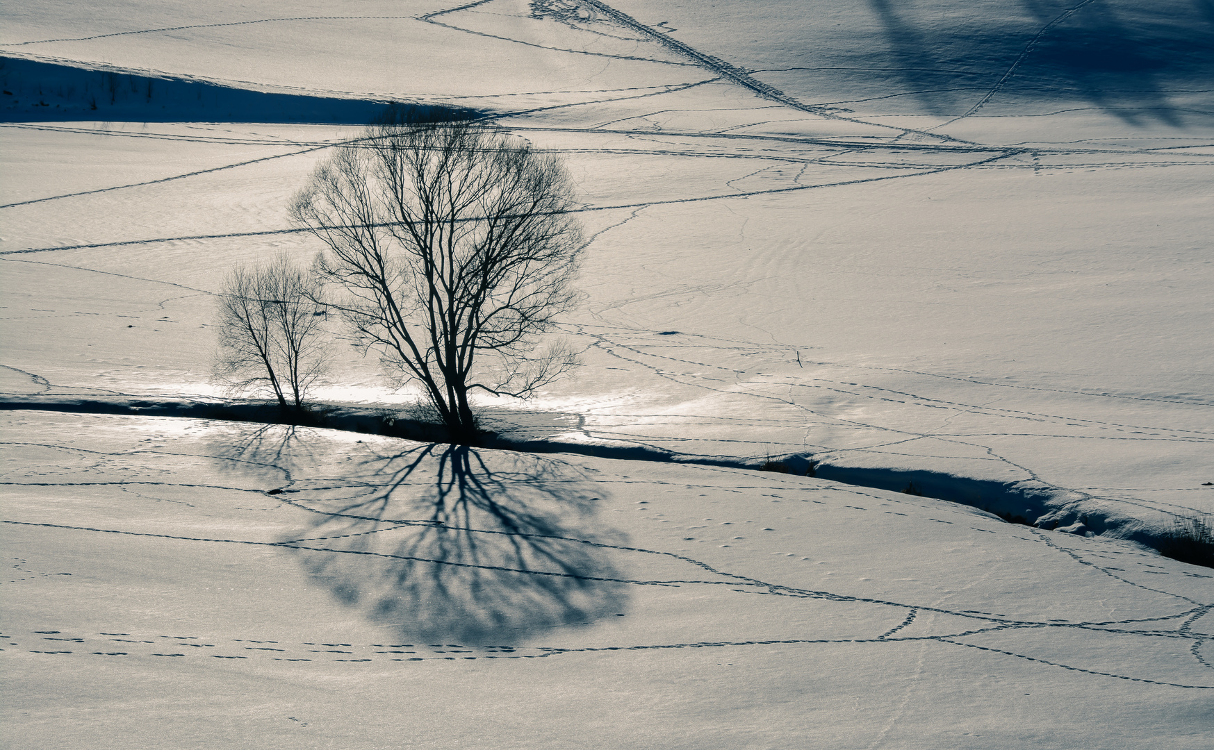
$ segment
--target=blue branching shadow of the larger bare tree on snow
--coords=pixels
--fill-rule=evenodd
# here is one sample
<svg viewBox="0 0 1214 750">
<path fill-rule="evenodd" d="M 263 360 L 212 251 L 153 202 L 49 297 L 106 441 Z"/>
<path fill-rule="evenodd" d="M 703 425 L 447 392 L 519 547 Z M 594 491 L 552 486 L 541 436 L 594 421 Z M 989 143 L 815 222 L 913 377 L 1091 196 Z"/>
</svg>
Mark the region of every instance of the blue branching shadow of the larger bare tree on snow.
<svg viewBox="0 0 1214 750">
<path fill-rule="evenodd" d="M 511 643 L 624 612 L 628 584 L 597 546 L 624 540 L 596 523 L 603 495 L 575 466 L 421 444 L 352 459 L 333 479 L 283 492 L 314 523 L 282 544 L 401 638 Z"/>
</svg>

